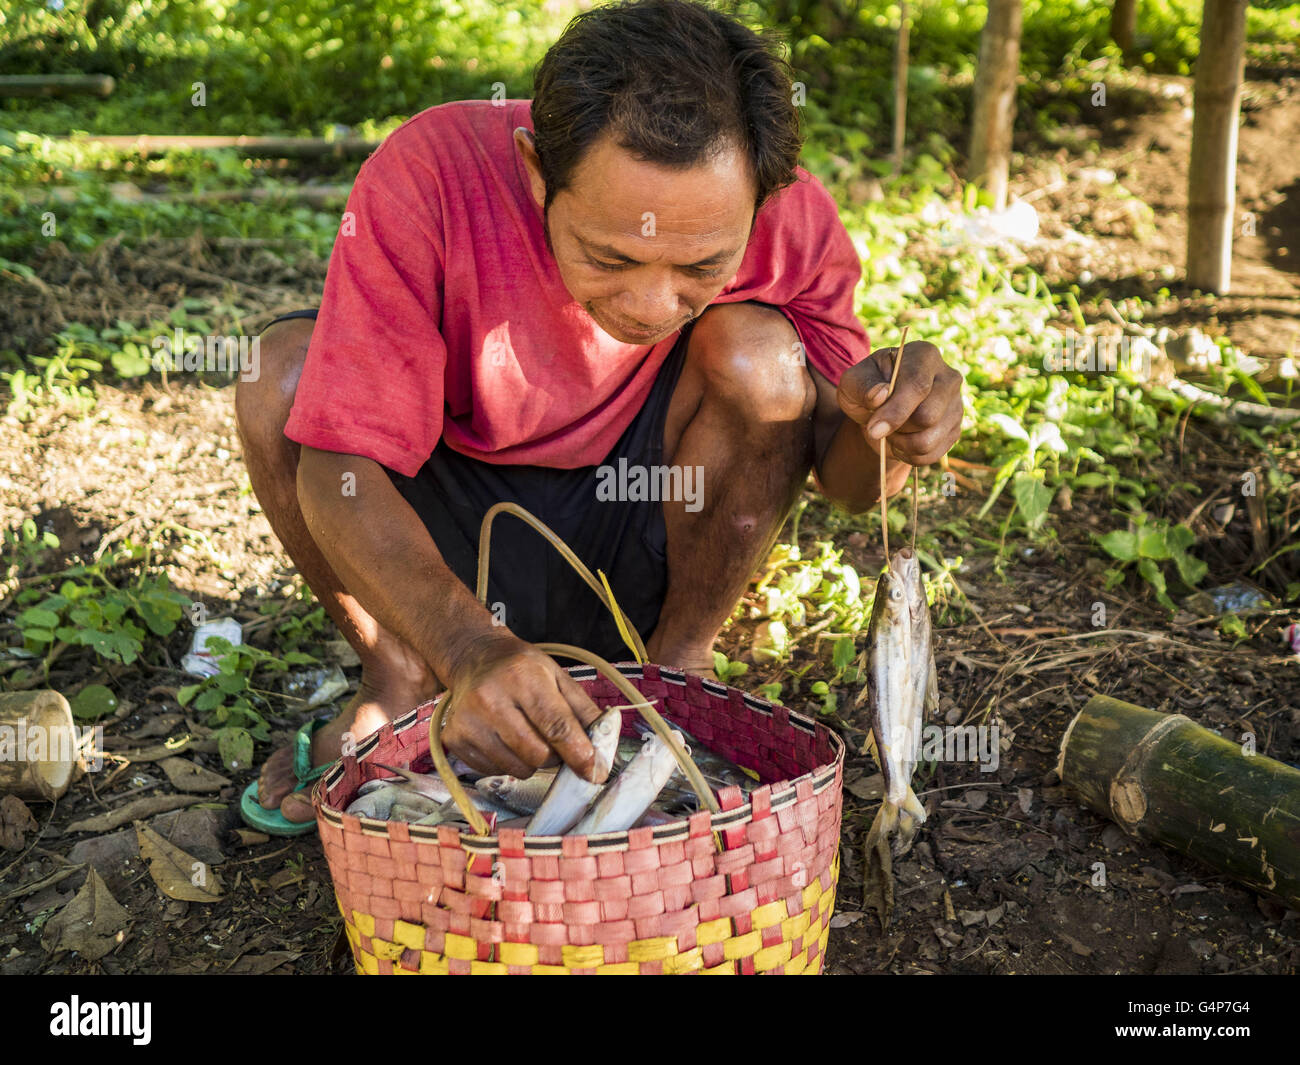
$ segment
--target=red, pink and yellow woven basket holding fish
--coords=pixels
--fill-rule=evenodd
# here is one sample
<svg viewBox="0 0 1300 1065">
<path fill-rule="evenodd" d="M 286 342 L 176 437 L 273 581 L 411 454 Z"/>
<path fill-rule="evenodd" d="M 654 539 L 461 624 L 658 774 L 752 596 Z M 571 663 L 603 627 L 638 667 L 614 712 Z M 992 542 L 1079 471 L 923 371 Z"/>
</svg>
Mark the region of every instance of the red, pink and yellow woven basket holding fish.
<svg viewBox="0 0 1300 1065">
<path fill-rule="evenodd" d="M 820 973 L 838 875 L 844 744 L 809 718 L 654 664 L 619 672 L 763 785 L 720 813 L 595 836 L 469 835 L 342 810 L 376 763 L 426 765 L 438 701 L 385 726 L 312 792 L 359 973 Z M 569 674 L 603 710 L 627 696 Z M 634 710 L 624 710 L 632 733 Z M 719 844 L 722 850 L 719 852 Z"/>
</svg>

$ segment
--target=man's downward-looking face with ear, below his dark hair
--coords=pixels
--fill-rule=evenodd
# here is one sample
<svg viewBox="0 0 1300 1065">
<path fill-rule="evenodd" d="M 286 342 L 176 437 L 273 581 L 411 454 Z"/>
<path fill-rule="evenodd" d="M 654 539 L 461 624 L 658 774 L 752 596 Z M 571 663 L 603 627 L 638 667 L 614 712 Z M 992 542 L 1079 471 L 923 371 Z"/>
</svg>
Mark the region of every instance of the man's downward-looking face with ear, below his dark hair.
<svg viewBox="0 0 1300 1065">
<path fill-rule="evenodd" d="M 530 139 L 524 143 L 541 204 L 545 185 Z M 602 137 L 551 200 L 551 251 L 566 287 L 597 325 L 624 343 L 653 345 L 703 313 L 734 277 L 755 195 L 737 150 L 673 170 Z"/>
</svg>

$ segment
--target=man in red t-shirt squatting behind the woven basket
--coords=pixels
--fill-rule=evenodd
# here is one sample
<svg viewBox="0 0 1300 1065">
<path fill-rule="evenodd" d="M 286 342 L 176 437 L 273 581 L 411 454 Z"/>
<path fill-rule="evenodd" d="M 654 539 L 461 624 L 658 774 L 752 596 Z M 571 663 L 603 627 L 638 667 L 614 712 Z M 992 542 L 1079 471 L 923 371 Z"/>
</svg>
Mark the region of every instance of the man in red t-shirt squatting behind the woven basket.
<svg viewBox="0 0 1300 1065">
<path fill-rule="evenodd" d="M 268 328 L 237 397 L 254 490 L 363 666 L 296 766 L 268 761 L 264 809 L 311 821 L 304 770 L 443 685 L 469 765 L 590 775 L 595 707 L 533 644 L 628 655 L 514 518 L 476 601 L 493 503 L 602 568 L 651 661 L 707 674 L 810 467 L 861 511 L 952 446 L 961 377 L 932 345 L 907 346 L 885 402 L 894 352 L 867 358 L 859 263 L 800 143 L 762 39 L 644 0 L 575 18 L 530 105 L 432 108 L 367 161 L 315 325 Z M 670 499 L 612 476 L 663 466 Z"/>
</svg>

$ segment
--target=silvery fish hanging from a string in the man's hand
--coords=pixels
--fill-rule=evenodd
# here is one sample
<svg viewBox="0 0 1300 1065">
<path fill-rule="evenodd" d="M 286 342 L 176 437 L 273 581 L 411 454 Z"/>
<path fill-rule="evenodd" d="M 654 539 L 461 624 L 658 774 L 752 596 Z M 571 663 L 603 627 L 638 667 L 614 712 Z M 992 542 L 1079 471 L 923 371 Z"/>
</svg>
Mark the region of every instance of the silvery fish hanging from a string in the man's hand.
<svg viewBox="0 0 1300 1065">
<path fill-rule="evenodd" d="M 864 905 L 876 910 L 884 927 L 893 909 L 893 854 L 906 853 L 926 821 L 911 778 L 922 726 L 939 702 L 930 606 L 911 547 L 896 551 L 880 575 L 862 658 L 867 685 L 855 705 L 867 706 L 884 783 L 884 798 L 866 840 Z"/>
</svg>

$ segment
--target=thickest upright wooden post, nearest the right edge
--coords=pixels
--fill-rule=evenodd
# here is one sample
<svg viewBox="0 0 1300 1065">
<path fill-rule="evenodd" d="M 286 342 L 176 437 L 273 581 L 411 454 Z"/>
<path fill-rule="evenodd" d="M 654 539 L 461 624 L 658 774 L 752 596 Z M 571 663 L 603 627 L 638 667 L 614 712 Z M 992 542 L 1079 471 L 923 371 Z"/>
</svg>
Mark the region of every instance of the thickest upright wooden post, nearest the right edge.
<svg viewBox="0 0 1300 1065">
<path fill-rule="evenodd" d="M 1236 117 L 1245 65 L 1245 0 L 1205 0 L 1187 168 L 1187 283 L 1223 295 L 1232 269 Z"/>
</svg>

